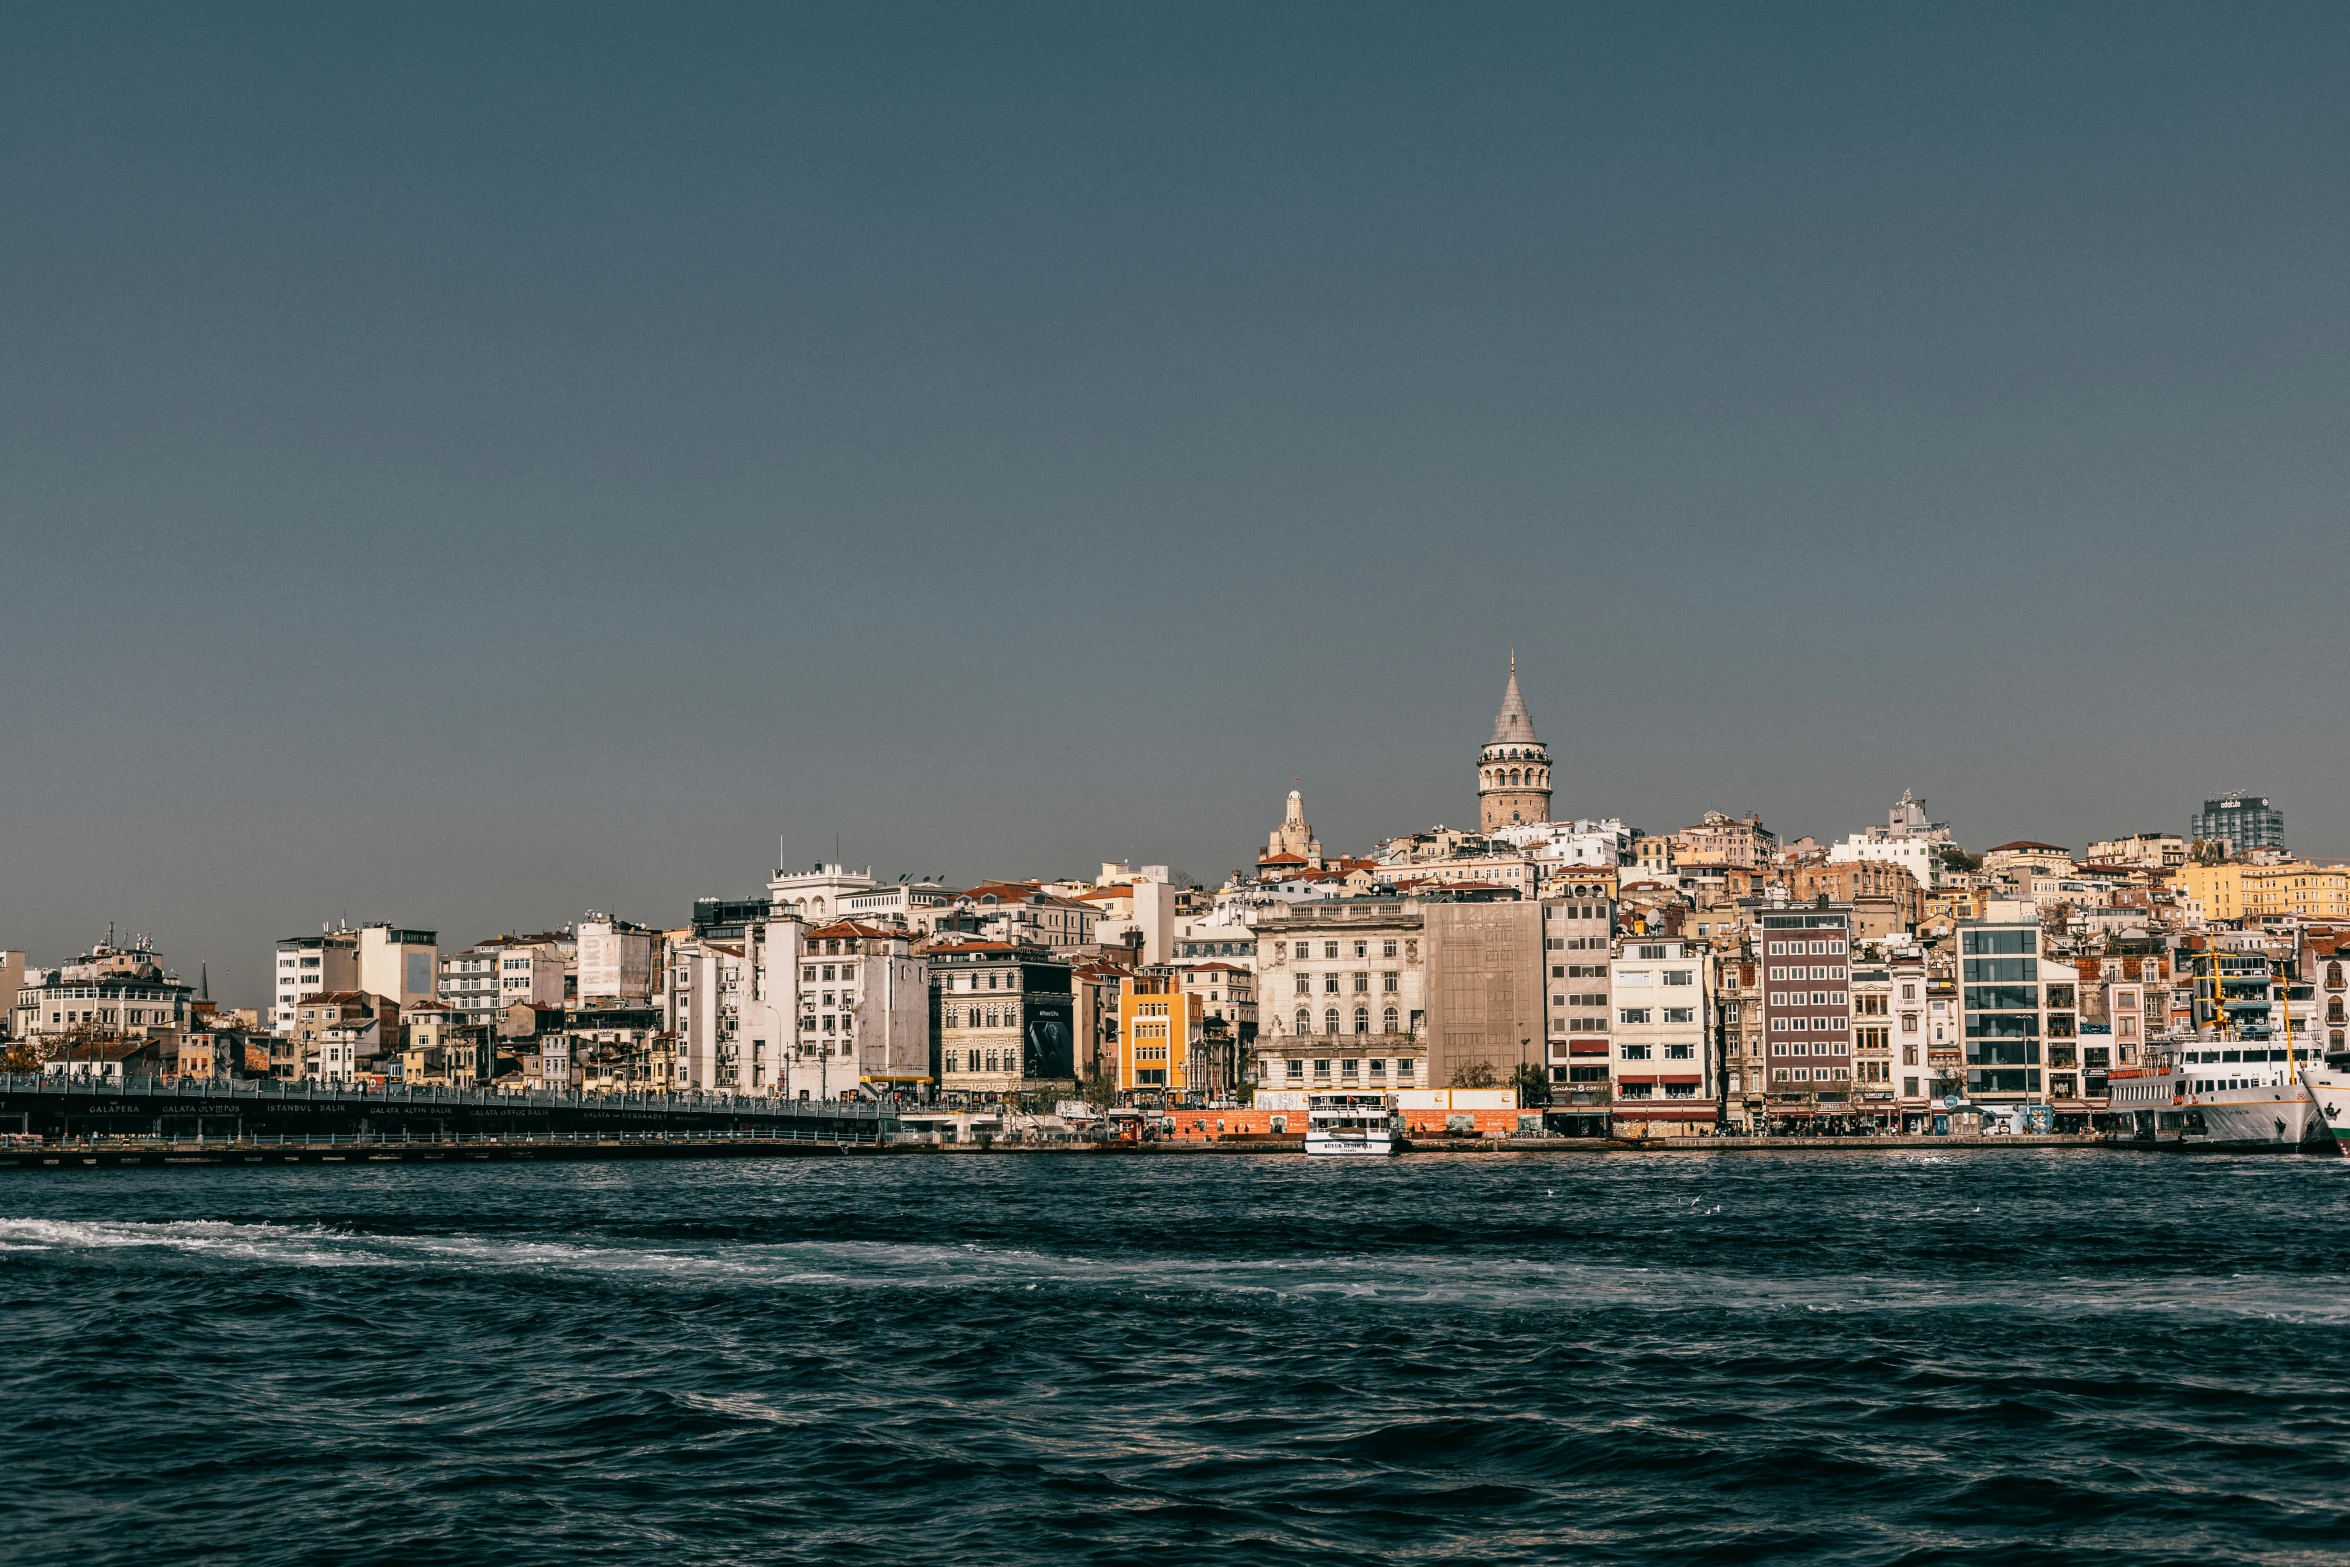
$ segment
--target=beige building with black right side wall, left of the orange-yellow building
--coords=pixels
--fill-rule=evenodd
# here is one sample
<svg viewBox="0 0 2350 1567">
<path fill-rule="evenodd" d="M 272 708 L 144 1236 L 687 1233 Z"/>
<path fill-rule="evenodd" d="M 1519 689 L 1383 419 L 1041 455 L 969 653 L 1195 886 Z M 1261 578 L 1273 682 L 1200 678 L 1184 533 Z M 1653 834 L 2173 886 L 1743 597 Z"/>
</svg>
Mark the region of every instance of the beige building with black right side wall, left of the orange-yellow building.
<svg viewBox="0 0 2350 1567">
<path fill-rule="evenodd" d="M 926 956 L 940 1092 L 996 1102 L 1076 1085 L 1067 959 L 1032 942 L 952 942 Z"/>
</svg>

